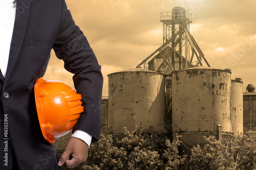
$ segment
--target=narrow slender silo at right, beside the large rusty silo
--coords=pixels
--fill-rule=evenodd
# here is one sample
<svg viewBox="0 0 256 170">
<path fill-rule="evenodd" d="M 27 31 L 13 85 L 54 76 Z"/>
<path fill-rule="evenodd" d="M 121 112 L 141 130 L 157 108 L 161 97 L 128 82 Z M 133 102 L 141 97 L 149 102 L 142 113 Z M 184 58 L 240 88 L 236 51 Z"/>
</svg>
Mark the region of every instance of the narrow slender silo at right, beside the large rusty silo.
<svg viewBox="0 0 256 170">
<path fill-rule="evenodd" d="M 243 133 L 243 82 L 231 80 L 231 124 L 234 135 Z"/>
</svg>

